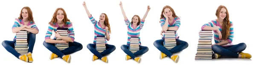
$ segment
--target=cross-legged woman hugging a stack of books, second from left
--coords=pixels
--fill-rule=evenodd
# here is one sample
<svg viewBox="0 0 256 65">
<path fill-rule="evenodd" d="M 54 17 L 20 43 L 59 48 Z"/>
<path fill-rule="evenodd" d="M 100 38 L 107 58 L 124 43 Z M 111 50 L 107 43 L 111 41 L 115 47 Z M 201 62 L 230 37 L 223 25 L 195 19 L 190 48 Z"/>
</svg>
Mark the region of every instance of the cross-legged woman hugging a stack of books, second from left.
<svg viewBox="0 0 256 65">
<path fill-rule="evenodd" d="M 61 36 L 57 32 L 58 27 L 68 28 L 68 37 Z M 55 32 L 54 39 L 50 38 L 52 36 L 52 31 Z M 70 63 L 70 54 L 83 49 L 81 43 L 74 41 L 74 37 L 75 33 L 72 22 L 70 22 L 70 20 L 67 18 L 67 14 L 63 8 L 57 8 L 52 16 L 52 20 L 49 22 L 49 27 L 45 36 L 45 41 L 43 43 L 47 49 L 52 51 L 52 54 L 50 55 L 50 60 L 56 57 L 61 57 L 67 63 Z M 56 40 L 56 38 L 61 38 L 62 40 L 59 41 Z M 57 47 L 55 47 L 55 43 L 67 43 L 69 44 L 69 47 L 60 51 Z"/>
</svg>

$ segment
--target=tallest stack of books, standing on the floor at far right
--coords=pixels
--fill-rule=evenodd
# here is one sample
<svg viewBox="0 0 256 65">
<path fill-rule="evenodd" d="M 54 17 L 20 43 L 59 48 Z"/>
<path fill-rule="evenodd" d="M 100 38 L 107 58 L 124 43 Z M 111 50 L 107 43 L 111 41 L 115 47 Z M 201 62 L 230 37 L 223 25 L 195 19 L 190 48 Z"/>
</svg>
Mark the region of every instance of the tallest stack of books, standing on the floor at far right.
<svg viewBox="0 0 256 65">
<path fill-rule="evenodd" d="M 212 60 L 212 30 L 200 30 L 195 59 Z"/>
</svg>

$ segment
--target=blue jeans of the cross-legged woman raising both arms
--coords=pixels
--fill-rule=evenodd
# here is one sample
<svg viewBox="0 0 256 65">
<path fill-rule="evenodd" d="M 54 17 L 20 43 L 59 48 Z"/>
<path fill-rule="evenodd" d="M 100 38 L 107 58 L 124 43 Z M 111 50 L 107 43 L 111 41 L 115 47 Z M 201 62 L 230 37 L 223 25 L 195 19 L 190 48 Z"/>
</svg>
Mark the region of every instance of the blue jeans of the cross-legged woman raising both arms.
<svg viewBox="0 0 256 65">
<path fill-rule="evenodd" d="M 121 49 L 125 52 L 125 54 L 128 54 L 132 59 L 135 59 L 135 57 L 145 54 L 148 51 L 148 47 L 141 45 L 140 50 L 135 52 L 134 54 L 129 50 L 129 45 L 122 45 Z"/>
</svg>

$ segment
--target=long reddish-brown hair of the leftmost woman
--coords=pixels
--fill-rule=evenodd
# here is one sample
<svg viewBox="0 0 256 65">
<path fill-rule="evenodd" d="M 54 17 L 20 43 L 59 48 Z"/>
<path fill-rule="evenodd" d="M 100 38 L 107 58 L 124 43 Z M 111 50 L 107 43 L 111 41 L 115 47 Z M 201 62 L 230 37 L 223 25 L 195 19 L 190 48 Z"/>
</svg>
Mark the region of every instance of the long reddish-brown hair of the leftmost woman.
<svg viewBox="0 0 256 65">
<path fill-rule="evenodd" d="M 27 6 L 26 6 L 26 7 L 23 7 L 23 8 L 21 9 L 21 11 L 20 11 L 20 16 L 19 16 L 18 19 L 23 19 L 23 17 L 22 17 L 22 10 L 23 10 L 23 9 L 26 9 L 26 10 L 28 11 L 28 14 L 29 14 L 28 20 L 29 20 L 29 22 L 34 22 L 32 11 L 31 11 L 31 9 L 30 9 L 29 7 L 27 7 Z"/>
</svg>

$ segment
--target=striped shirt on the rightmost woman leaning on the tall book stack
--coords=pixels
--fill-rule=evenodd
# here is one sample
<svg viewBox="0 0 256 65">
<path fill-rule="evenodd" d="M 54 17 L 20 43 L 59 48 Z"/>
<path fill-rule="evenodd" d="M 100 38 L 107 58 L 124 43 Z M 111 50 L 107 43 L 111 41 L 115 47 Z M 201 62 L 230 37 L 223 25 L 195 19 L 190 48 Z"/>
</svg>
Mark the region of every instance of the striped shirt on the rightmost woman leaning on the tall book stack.
<svg viewBox="0 0 256 65">
<path fill-rule="evenodd" d="M 201 29 L 203 30 L 204 27 L 206 26 L 209 26 L 209 27 L 216 27 L 218 28 L 220 31 L 222 31 L 222 27 L 220 25 L 219 22 L 215 20 L 212 20 L 211 22 L 208 22 L 207 24 L 204 24 Z M 228 44 L 226 45 L 222 45 L 222 46 L 230 46 L 230 45 L 233 45 L 232 41 L 233 41 L 233 38 L 234 38 L 234 30 L 233 30 L 233 23 L 230 22 L 230 35 L 228 36 L 227 38 L 227 41 L 229 42 Z M 217 33 L 217 31 L 214 31 L 214 41 L 215 43 L 219 43 L 219 42 L 222 42 L 222 41 L 225 41 L 223 39 L 219 39 L 219 35 Z"/>
</svg>

